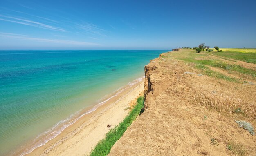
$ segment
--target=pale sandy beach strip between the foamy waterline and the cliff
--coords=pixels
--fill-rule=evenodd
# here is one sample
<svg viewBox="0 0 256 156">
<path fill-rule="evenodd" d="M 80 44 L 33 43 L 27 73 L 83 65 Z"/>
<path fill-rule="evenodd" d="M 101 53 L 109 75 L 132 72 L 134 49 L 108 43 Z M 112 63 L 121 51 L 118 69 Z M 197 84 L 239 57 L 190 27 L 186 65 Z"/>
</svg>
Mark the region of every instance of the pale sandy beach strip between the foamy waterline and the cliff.
<svg viewBox="0 0 256 156">
<path fill-rule="evenodd" d="M 137 97 L 142 94 L 144 78 L 142 81 L 130 83 L 122 89 L 117 96 L 99 106 L 92 113 L 84 115 L 56 138 L 34 149 L 26 156 L 89 155 L 97 142 L 127 116 L 129 112 L 127 108 L 135 103 Z M 111 125 L 111 127 L 108 128 L 107 125 Z"/>
</svg>

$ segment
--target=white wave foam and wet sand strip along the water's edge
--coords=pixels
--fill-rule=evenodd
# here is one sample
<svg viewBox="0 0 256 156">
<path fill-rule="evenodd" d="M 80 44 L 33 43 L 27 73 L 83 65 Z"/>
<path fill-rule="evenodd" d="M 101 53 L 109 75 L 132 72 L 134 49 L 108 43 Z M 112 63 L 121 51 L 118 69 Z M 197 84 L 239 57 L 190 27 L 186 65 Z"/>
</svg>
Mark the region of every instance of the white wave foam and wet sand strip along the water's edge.
<svg viewBox="0 0 256 156">
<path fill-rule="evenodd" d="M 77 118 L 74 118 L 75 116 L 77 116 L 79 114 L 78 111 L 75 114 L 72 114 L 69 116 L 69 118 L 65 119 L 65 120 L 61 120 L 60 122 L 58 122 L 56 125 L 54 125 L 51 129 L 48 129 L 47 131 L 39 134 L 33 142 L 33 146 L 29 149 L 26 149 L 25 152 L 23 152 L 20 156 L 24 156 L 25 154 L 29 154 L 31 153 L 34 149 L 45 145 L 47 142 L 49 142 L 50 140 L 54 139 L 56 136 L 58 136 L 59 134 L 61 134 L 61 132 L 63 130 L 65 130 L 67 127 L 69 127 L 70 125 L 72 125 L 73 123 L 75 123 L 77 120 L 79 120 L 81 117 L 83 117 L 85 114 L 89 114 L 93 111 L 95 111 L 98 107 L 100 107 L 101 105 L 105 104 L 106 102 L 108 102 L 110 99 L 114 98 L 115 96 L 117 96 L 118 94 L 120 94 L 121 92 L 123 92 L 125 89 L 128 89 L 130 87 L 132 87 L 133 85 L 139 83 L 142 81 L 142 79 L 145 78 L 145 76 L 141 77 L 141 78 L 137 78 L 132 82 L 129 82 L 127 85 L 128 87 L 126 88 L 119 88 L 113 96 L 111 96 L 110 98 L 98 103 L 97 105 L 95 105 L 92 109 L 86 111 L 85 113 L 79 115 Z M 122 89 L 123 88 L 123 89 Z M 121 90 L 120 90 L 121 89 Z M 41 138 L 43 137 L 43 138 Z M 40 139 L 41 138 L 41 139 Z M 39 140 L 38 140 L 39 139 Z"/>
</svg>

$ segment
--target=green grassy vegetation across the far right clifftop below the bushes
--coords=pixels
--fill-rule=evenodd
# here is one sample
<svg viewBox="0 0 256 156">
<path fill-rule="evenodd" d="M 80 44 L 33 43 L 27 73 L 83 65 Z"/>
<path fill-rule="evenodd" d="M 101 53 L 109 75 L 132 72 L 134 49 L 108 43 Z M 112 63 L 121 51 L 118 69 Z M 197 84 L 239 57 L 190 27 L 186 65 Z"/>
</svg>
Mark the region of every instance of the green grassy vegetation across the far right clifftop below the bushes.
<svg viewBox="0 0 256 156">
<path fill-rule="evenodd" d="M 209 49 L 211 50 L 211 49 Z M 187 52 L 186 52 L 187 51 Z M 218 60 L 218 58 L 212 58 L 210 55 L 208 55 L 208 52 L 202 54 L 202 55 L 197 55 L 195 53 L 191 53 L 192 50 L 185 50 L 184 53 L 173 53 L 172 56 L 175 57 L 176 59 L 179 60 L 183 60 L 185 62 L 191 63 L 191 65 L 193 65 L 193 67 L 196 67 L 197 69 L 200 69 L 205 75 L 211 76 L 211 77 L 215 77 L 215 78 L 220 78 L 220 79 L 225 79 L 227 81 L 230 82 L 240 82 L 240 80 L 238 80 L 237 78 L 231 77 L 231 76 L 227 76 L 225 74 L 222 74 L 222 72 L 220 71 L 216 71 L 213 69 L 210 69 L 209 67 L 213 67 L 213 68 L 221 68 L 224 70 L 227 70 L 228 73 L 231 74 L 239 74 L 241 76 L 243 76 L 244 78 L 250 78 L 252 80 L 254 80 L 256 78 L 256 70 L 254 69 L 249 69 L 249 68 L 245 68 L 243 66 L 240 65 L 235 65 L 233 63 L 230 62 L 226 62 L 223 60 Z M 232 52 L 227 52 L 227 53 L 232 53 Z M 215 55 L 215 56 L 220 56 L 220 58 L 222 59 L 229 59 L 228 57 L 232 57 L 232 58 L 240 58 L 241 60 L 244 59 L 242 56 L 247 56 L 247 60 L 256 60 L 256 53 L 236 53 L 234 55 L 227 55 L 226 52 L 225 53 L 211 53 L 211 55 Z M 223 57 L 222 57 L 223 56 Z M 254 58 L 254 59 L 252 59 Z"/>
</svg>

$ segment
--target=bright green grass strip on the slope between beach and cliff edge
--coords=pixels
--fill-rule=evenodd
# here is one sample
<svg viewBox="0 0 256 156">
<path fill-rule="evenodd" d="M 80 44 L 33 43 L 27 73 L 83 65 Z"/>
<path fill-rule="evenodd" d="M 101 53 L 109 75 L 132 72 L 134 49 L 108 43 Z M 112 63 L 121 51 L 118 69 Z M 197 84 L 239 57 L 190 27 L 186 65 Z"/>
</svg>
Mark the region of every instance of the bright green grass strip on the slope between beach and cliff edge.
<svg viewBox="0 0 256 156">
<path fill-rule="evenodd" d="M 130 111 L 129 115 L 124 118 L 124 120 L 111 129 L 107 134 L 106 138 L 99 141 L 99 143 L 94 147 L 90 156 L 106 156 L 109 154 L 112 146 L 123 136 L 127 127 L 132 124 L 132 121 L 139 115 L 141 109 L 144 107 L 144 97 L 140 96 L 137 99 L 137 104 Z"/>
</svg>

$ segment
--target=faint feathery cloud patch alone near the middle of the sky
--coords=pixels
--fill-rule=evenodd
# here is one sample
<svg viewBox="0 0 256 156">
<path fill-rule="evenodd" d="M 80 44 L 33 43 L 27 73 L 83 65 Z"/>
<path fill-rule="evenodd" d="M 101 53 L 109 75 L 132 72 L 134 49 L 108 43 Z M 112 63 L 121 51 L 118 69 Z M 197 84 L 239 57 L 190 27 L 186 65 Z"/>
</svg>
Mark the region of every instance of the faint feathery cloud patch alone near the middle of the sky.
<svg viewBox="0 0 256 156">
<path fill-rule="evenodd" d="M 100 36 L 106 36 L 103 34 L 104 29 L 99 28 L 97 25 L 94 25 L 92 23 L 84 23 L 84 24 L 76 24 L 79 26 L 80 29 L 83 29 L 87 33 L 90 33 L 92 35 L 100 35 Z"/>
</svg>

